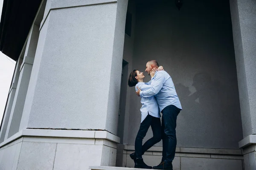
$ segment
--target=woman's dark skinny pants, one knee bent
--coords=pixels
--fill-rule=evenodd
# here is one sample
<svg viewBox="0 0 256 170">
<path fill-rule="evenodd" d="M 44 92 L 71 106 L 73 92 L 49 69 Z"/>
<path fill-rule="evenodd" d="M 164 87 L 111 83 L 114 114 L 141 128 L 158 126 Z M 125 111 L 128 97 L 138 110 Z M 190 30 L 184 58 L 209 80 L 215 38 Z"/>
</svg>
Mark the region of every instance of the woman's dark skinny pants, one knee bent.
<svg viewBox="0 0 256 170">
<path fill-rule="evenodd" d="M 153 137 L 151 139 L 148 139 L 148 141 L 145 142 L 142 146 L 142 140 L 146 136 L 149 126 L 151 126 L 151 129 L 153 131 Z M 143 120 L 143 122 L 141 122 L 140 130 L 138 131 L 138 134 L 135 139 L 136 159 L 142 159 L 142 155 L 145 153 L 145 151 L 147 151 L 154 144 L 161 141 L 160 132 L 161 132 L 160 118 L 157 118 L 148 114 L 148 116 Z"/>
</svg>

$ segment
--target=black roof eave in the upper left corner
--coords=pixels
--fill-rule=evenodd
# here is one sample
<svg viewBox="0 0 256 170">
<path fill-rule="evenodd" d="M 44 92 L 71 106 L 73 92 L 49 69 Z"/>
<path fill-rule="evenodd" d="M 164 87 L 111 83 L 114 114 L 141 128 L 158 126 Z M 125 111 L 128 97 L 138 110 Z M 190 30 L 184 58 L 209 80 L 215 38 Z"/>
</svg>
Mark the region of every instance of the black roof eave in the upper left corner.
<svg viewBox="0 0 256 170">
<path fill-rule="evenodd" d="M 3 0 L 0 51 L 17 61 L 41 0 Z"/>
</svg>

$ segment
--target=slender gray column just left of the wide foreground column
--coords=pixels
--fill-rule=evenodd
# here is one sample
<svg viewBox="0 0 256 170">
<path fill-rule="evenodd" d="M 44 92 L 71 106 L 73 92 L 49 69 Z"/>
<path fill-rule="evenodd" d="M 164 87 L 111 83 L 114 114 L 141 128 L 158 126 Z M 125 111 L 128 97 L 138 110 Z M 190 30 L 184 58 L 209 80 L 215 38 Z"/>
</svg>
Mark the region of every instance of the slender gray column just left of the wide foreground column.
<svg viewBox="0 0 256 170">
<path fill-rule="evenodd" d="M 20 76 L 17 83 L 17 90 L 12 105 L 12 111 L 10 113 L 9 123 L 6 129 L 6 139 L 19 131 L 23 106 L 26 99 L 26 93 L 29 86 L 29 79 L 35 57 L 38 36 L 39 27 L 33 25 L 29 32 L 23 63 L 20 67 Z"/>
</svg>

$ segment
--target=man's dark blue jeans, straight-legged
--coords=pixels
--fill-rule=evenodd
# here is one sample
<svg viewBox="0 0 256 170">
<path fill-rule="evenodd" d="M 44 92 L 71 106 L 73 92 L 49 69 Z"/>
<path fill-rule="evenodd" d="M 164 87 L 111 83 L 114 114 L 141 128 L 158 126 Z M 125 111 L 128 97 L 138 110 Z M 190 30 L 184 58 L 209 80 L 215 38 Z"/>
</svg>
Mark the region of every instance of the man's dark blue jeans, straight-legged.
<svg viewBox="0 0 256 170">
<path fill-rule="evenodd" d="M 166 106 L 163 111 L 162 116 L 162 139 L 163 139 L 163 158 L 162 161 L 166 163 L 172 163 L 175 157 L 176 150 L 176 121 L 177 116 L 181 109 L 177 108 L 175 105 Z"/>
</svg>

